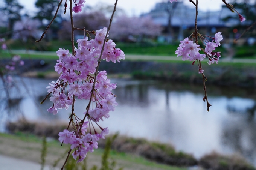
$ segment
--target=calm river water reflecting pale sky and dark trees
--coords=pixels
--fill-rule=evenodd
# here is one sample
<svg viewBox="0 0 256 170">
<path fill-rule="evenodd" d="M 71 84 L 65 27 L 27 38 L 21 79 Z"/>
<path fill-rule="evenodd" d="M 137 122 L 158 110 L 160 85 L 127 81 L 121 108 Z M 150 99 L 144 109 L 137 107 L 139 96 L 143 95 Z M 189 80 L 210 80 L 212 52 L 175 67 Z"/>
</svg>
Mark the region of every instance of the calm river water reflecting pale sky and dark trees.
<svg viewBox="0 0 256 170">
<path fill-rule="evenodd" d="M 30 120 L 67 122 L 70 109 L 54 116 L 46 112 L 52 102 L 46 100 L 39 105 L 50 81 L 28 79 L 27 82 L 34 84 L 27 85 L 34 88 L 34 98 L 25 95 L 17 104 Z M 111 132 L 171 143 L 177 150 L 193 153 L 197 158 L 212 150 L 238 152 L 256 165 L 254 89 L 208 86 L 212 107 L 207 113 L 202 86 L 137 80 L 111 82 L 117 83 L 113 93 L 119 105 L 100 124 L 108 126 Z M 77 99 L 75 113 L 82 117 L 86 105 L 86 101 Z"/>
</svg>

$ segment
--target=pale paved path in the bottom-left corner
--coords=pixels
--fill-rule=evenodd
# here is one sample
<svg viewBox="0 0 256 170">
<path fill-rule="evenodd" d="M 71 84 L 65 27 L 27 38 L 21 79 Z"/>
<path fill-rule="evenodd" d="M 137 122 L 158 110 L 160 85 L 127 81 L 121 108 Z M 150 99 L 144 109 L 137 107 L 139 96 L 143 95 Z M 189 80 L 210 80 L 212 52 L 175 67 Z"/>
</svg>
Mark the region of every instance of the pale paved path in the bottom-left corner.
<svg viewBox="0 0 256 170">
<path fill-rule="evenodd" d="M 0 155 L 0 170 L 40 170 L 41 165 L 25 161 L 22 159 L 16 159 L 9 156 Z M 44 170 L 49 170 L 49 167 L 45 167 Z"/>
</svg>

